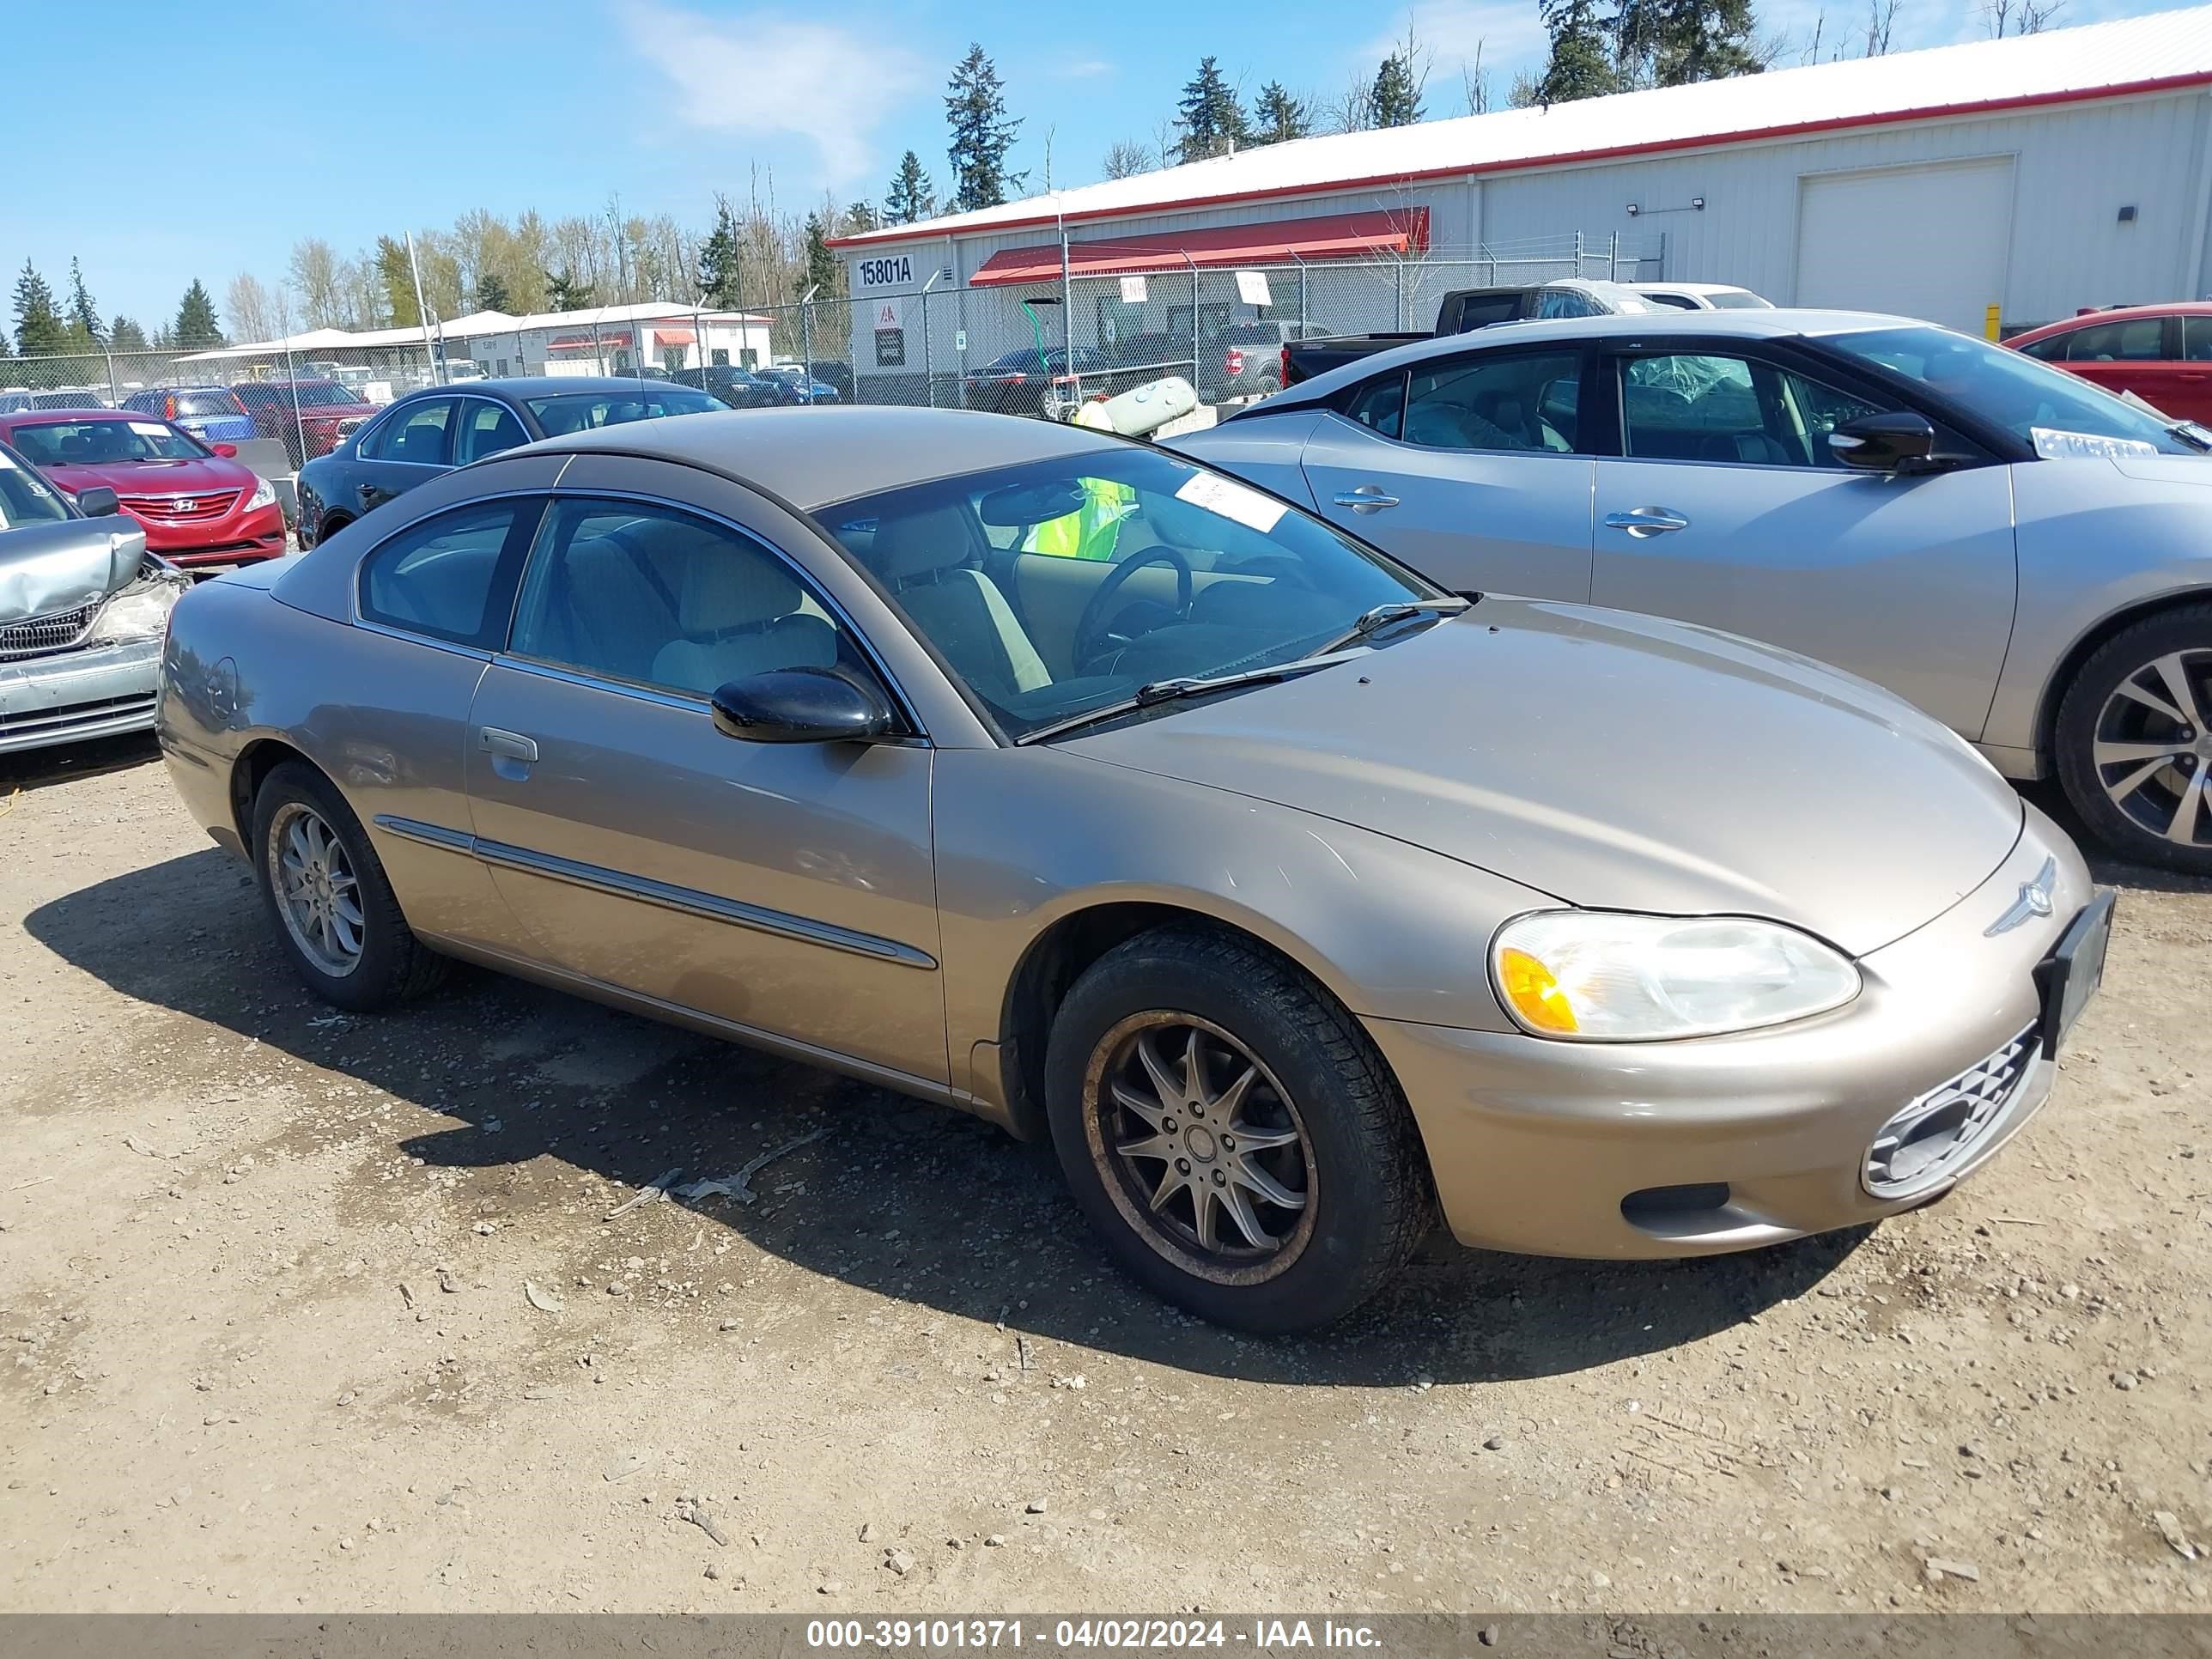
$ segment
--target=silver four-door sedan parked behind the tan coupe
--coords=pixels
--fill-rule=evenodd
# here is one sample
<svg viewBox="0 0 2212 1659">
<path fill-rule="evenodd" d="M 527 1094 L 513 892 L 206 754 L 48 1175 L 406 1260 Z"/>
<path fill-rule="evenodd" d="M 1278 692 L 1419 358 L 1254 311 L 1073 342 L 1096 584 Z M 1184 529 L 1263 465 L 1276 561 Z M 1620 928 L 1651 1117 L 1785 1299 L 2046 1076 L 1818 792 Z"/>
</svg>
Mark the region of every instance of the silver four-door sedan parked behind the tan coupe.
<svg viewBox="0 0 2212 1659">
<path fill-rule="evenodd" d="M 1515 323 L 1170 447 L 1451 588 L 1803 650 L 2212 874 L 2212 431 L 1898 316 Z"/>
</svg>

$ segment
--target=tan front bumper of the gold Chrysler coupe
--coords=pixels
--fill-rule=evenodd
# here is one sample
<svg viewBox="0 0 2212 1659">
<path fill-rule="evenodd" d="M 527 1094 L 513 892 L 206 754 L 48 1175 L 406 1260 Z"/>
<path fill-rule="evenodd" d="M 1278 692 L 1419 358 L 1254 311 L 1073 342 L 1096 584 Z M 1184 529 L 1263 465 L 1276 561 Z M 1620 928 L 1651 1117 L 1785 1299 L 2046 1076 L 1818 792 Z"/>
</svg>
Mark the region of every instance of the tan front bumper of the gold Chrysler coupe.
<svg viewBox="0 0 2212 1659">
<path fill-rule="evenodd" d="M 2055 860 L 2051 916 L 1986 929 Z M 1451 1232 L 1544 1256 L 1701 1256 L 1880 1221 L 1986 1164 L 2051 1095 L 2039 1046 L 1940 1179 L 1878 1199 L 1876 1133 L 2035 1024 L 2035 967 L 2095 898 L 2066 836 L 2026 807 L 1975 891 L 1860 960 L 1827 1015 L 1688 1042 L 1575 1044 L 1367 1020 L 1413 1108 Z"/>
</svg>

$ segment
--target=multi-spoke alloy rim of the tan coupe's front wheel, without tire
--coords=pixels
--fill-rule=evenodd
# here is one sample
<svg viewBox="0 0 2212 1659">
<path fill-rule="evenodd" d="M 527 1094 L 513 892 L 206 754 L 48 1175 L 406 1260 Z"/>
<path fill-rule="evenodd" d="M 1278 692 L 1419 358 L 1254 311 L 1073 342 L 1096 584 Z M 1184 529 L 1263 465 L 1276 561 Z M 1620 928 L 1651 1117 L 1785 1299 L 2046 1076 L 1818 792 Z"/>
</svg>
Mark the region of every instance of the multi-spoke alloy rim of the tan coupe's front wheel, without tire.
<svg viewBox="0 0 2212 1659">
<path fill-rule="evenodd" d="M 1188 1013 L 1133 1013 L 1093 1051 L 1084 1095 L 1091 1157 L 1115 1208 L 1183 1272 L 1252 1285 L 1305 1250 L 1305 1126 L 1228 1031 Z"/>
</svg>

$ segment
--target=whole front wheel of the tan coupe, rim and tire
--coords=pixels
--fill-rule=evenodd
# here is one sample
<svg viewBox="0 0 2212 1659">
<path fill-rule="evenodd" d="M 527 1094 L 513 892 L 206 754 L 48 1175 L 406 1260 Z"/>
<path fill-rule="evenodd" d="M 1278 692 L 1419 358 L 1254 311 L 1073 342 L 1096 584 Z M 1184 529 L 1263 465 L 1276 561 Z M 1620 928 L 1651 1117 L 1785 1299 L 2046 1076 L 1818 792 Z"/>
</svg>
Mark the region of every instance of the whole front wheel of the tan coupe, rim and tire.
<svg viewBox="0 0 2212 1659">
<path fill-rule="evenodd" d="M 1413 1119 L 1358 1020 L 1230 933 L 1170 927 L 1093 962 L 1053 1020 L 1046 1115 L 1115 1261 L 1217 1325 L 1318 1329 L 1436 1217 Z"/>
</svg>

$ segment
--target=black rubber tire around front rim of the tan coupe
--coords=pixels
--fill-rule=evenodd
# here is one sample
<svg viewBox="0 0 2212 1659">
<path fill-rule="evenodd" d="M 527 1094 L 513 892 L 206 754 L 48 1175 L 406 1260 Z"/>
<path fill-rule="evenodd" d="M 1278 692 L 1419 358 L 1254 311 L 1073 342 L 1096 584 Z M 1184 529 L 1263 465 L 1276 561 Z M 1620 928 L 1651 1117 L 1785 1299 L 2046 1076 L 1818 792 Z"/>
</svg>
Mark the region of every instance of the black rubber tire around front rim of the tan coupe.
<svg viewBox="0 0 2212 1659">
<path fill-rule="evenodd" d="M 1133 1040 L 1117 1033 L 1161 1015 L 1194 1015 L 1228 1037 L 1228 1066 L 1250 1060 L 1261 1075 L 1245 1099 L 1267 1102 L 1259 1110 L 1276 1113 L 1272 1121 L 1303 1128 L 1287 1152 L 1301 1159 L 1307 1201 L 1274 1256 L 1234 1265 L 1179 1245 L 1168 1237 L 1170 1221 L 1177 1203 L 1194 1197 L 1170 1199 L 1168 1210 L 1148 1206 L 1159 1221 L 1135 1208 L 1133 1197 L 1144 1194 L 1121 1172 L 1139 1166 L 1106 1146 L 1113 1117 L 1102 1119 L 1095 1102 L 1113 1055 Z M 1427 1152 L 1367 1033 L 1296 967 L 1225 931 L 1141 933 L 1093 962 L 1053 1018 L 1044 1088 L 1060 1168 L 1113 1259 L 1155 1294 L 1217 1325 L 1263 1336 L 1329 1325 L 1405 1265 L 1436 1217 Z M 1188 1119 L 1183 1128 L 1194 1133 Z M 1172 1159 L 1157 1161 L 1166 1186 Z M 1228 1221 L 1221 1228 L 1228 1234 Z"/>
</svg>

